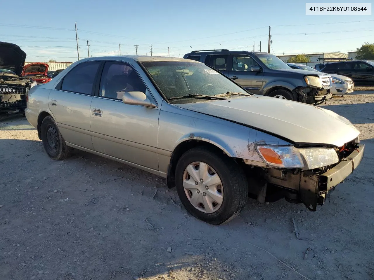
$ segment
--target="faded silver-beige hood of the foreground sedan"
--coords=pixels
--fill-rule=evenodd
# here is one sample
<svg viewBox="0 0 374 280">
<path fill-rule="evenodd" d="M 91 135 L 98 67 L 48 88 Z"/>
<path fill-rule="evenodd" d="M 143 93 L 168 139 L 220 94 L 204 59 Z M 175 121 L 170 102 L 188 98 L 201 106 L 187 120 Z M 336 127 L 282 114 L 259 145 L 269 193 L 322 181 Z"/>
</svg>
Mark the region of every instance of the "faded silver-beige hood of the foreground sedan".
<svg viewBox="0 0 374 280">
<path fill-rule="evenodd" d="M 254 95 L 175 106 L 248 125 L 298 144 L 341 147 L 360 134 L 346 118 L 332 111 L 273 97 Z"/>
</svg>

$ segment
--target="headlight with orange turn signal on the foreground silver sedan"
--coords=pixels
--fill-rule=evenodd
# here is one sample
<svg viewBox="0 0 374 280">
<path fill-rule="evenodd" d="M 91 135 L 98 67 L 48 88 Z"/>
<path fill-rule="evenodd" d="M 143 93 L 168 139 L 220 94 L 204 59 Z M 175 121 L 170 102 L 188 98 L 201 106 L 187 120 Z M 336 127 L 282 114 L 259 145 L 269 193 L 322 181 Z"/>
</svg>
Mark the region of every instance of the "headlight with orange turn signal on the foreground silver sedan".
<svg viewBox="0 0 374 280">
<path fill-rule="evenodd" d="M 257 146 L 258 154 L 263 161 L 274 168 L 315 169 L 335 164 L 339 161 L 334 149 L 301 148 L 294 146 Z"/>
</svg>

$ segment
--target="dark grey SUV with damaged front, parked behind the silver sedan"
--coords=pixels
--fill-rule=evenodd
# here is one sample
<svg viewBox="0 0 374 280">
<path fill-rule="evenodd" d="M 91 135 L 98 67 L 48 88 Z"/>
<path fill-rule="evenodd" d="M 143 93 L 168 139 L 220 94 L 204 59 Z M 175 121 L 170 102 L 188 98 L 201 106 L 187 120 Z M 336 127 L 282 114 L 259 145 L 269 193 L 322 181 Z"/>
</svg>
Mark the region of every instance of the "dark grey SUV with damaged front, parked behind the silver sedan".
<svg viewBox="0 0 374 280">
<path fill-rule="evenodd" d="M 331 77 L 316 71 L 292 69 L 270 53 L 201 50 L 183 58 L 203 62 L 254 94 L 319 104 L 332 97 Z"/>
</svg>

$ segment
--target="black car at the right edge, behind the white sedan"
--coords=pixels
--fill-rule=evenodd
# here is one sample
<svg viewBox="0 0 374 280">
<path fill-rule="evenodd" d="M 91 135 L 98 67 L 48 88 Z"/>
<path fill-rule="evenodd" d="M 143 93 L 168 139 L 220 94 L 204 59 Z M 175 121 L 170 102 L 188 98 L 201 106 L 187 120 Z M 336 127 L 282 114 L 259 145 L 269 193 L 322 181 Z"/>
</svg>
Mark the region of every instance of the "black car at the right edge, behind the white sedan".
<svg viewBox="0 0 374 280">
<path fill-rule="evenodd" d="M 321 71 L 349 77 L 355 85 L 374 85 L 374 62 L 369 60 L 328 63 Z"/>
</svg>

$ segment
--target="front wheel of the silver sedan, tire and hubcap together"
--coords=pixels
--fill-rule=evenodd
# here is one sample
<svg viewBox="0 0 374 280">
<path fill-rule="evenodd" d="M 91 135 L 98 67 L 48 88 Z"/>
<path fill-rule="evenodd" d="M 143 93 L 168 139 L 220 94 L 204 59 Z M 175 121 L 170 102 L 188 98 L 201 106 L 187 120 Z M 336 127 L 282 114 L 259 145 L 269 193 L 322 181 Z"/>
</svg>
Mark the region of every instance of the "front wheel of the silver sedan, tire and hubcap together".
<svg viewBox="0 0 374 280">
<path fill-rule="evenodd" d="M 232 158 L 197 147 L 177 163 L 178 196 L 186 210 L 209 224 L 227 223 L 236 217 L 248 198 L 248 182 Z"/>
</svg>

